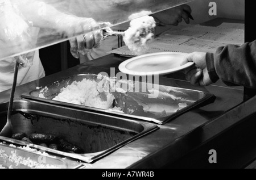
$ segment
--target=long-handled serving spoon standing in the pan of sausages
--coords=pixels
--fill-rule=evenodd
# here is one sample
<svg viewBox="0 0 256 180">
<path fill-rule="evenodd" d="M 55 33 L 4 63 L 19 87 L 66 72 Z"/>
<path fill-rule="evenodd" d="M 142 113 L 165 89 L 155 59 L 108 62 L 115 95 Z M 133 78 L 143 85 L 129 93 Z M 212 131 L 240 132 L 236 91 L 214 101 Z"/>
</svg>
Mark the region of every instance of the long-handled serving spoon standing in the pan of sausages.
<svg viewBox="0 0 256 180">
<path fill-rule="evenodd" d="M 0 136 L 11 137 L 11 135 L 13 134 L 13 127 L 11 125 L 11 112 L 13 111 L 13 100 L 14 100 L 14 93 L 15 93 L 16 82 L 17 82 L 18 69 L 19 69 L 19 62 L 15 61 L 13 86 L 11 87 L 10 102 L 9 102 L 8 111 L 7 111 L 7 122 L 5 127 L 3 127 L 2 131 L 0 132 Z"/>
</svg>

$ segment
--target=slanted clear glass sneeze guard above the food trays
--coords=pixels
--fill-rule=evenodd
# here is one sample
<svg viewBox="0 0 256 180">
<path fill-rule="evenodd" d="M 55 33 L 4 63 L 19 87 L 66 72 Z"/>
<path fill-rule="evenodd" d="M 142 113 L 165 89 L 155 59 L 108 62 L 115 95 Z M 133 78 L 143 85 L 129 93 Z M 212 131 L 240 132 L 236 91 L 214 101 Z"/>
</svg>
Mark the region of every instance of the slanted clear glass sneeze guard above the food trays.
<svg viewBox="0 0 256 180">
<path fill-rule="evenodd" d="M 106 26 L 117 26 L 118 24 L 129 22 L 131 15 L 138 14 L 138 16 L 133 16 L 134 18 L 138 18 L 139 12 L 141 11 L 146 11 L 148 12 L 147 15 L 150 15 L 191 1 L 192 0 L 0 0 L 0 14 L 5 13 L 2 15 L 4 19 L 2 23 L 0 23 L 3 27 L 0 32 L 0 60 L 61 43 L 77 35 L 83 35 Z M 8 10 L 9 7 L 6 7 L 6 2 L 11 2 L 13 11 Z M 51 7 L 50 11 L 49 7 Z M 103 23 L 101 26 L 97 26 L 97 28 L 88 26 L 83 28 L 82 31 L 77 31 L 72 36 L 67 36 L 65 30 L 60 30 L 61 28 L 57 28 L 57 26 L 59 26 L 59 24 L 61 26 L 61 23 L 68 23 L 68 20 L 67 18 L 61 19 L 61 15 L 58 13 L 55 14 L 55 10 L 60 14 L 67 15 L 67 17 L 77 16 L 80 18 L 92 18 L 96 22 L 109 22 L 110 25 Z M 32 15 L 35 11 L 37 11 L 37 14 Z M 12 12 L 15 12 L 15 15 Z M 10 23 L 9 19 L 14 21 L 13 24 L 5 27 L 5 23 Z M 55 26 L 55 24 L 57 24 L 57 26 Z M 71 26 L 72 28 L 72 23 L 64 25 L 65 27 Z M 24 32 L 21 32 L 22 28 L 27 30 L 25 35 Z M 13 35 L 16 30 L 18 30 L 18 34 Z M 9 33 L 8 35 L 11 37 L 4 37 L 6 33 Z"/>
</svg>

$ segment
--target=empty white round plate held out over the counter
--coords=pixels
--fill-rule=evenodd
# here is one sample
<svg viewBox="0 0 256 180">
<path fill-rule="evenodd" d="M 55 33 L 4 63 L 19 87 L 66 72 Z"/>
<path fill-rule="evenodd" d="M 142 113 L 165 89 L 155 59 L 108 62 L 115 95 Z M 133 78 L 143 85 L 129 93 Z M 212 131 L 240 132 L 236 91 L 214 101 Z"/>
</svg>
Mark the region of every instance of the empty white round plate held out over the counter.
<svg viewBox="0 0 256 180">
<path fill-rule="evenodd" d="M 150 53 L 123 61 L 119 65 L 119 70 L 134 76 L 175 73 L 194 64 L 194 62 L 188 62 L 180 66 L 186 55 L 187 53 L 179 52 Z"/>
</svg>

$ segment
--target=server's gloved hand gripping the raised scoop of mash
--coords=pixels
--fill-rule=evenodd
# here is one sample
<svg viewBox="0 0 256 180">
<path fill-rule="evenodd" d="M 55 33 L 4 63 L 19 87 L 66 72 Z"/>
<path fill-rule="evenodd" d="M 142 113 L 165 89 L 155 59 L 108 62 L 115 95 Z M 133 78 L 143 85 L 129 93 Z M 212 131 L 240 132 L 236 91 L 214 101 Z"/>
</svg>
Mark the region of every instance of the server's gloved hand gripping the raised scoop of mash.
<svg viewBox="0 0 256 180">
<path fill-rule="evenodd" d="M 92 18 L 79 18 L 67 15 L 60 18 L 57 24 L 59 24 L 60 30 L 65 32 L 68 37 L 76 36 L 69 40 L 71 53 L 75 58 L 79 58 L 79 53 L 82 55 L 90 53 L 101 42 L 100 25 Z"/>
</svg>

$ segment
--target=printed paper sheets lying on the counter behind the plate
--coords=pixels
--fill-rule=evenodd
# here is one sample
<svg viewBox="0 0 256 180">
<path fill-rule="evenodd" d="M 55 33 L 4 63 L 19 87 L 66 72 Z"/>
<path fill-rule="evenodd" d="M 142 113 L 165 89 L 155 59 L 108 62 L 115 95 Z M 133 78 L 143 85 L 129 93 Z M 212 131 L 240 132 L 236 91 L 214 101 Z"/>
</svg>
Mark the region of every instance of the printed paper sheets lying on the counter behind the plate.
<svg viewBox="0 0 256 180">
<path fill-rule="evenodd" d="M 218 27 L 200 25 L 180 25 L 163 32 L 148 45 L 147 53 L 215 52 L 227 44 L 242 45 L 245 39 L 244 24 L 223 23 Z M 114 49 L 109 53 L 122 56 L 136 56 L 127 46 Z"/>
</svg>

